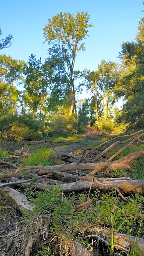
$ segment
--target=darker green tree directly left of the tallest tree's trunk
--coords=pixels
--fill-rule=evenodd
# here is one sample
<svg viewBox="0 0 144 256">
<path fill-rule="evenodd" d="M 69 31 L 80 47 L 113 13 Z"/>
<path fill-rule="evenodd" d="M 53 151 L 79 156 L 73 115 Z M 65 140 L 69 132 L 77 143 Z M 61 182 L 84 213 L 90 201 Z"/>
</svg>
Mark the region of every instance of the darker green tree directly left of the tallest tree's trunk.
<svg viewBox="0 0 144 256">
<path fill-rule="evenodd" d="M 44 63 L 44 73 L 50 90 L 48 109 L 50 111 L 67 109 L 71 103 L 69 100 L 69 80 L 63 65 L 61 49 L 57 45 L 53 45 L 48 50 L 48 57 Z"/>
</svg>

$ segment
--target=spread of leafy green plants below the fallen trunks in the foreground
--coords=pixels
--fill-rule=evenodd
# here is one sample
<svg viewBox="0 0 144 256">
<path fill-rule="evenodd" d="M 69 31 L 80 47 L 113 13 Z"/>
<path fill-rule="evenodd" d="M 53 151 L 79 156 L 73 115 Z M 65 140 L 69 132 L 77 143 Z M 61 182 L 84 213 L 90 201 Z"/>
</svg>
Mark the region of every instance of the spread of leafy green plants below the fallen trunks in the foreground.
<svg viewBox="0 0 144 256">
<path fill-rule="evenodd" d="M 33 212 L 25 212 L 25 221 L 31 228 L 29 232 L 37 230 L 38 220 L 44 218 L 49 223 L 48 240 L 39 253 L 41 255 L 51 255 L 56 253 L 57 246 L 65 248 L 68 239 L 82 240 L 83 244 L 90 246 L 89 241 L 83 236 L 91 232 L 91 228 L 97 225 L 111 228 L 111 239 L 109 252 L 114 253 L 114 230 L 139 237 L 142 235 L 142 215 L 140 209 L 144 197 L 139 194 L 128 196 L 127 202 L 115 197 L 115 192 L 110 191 L 105 194 L 94 191 L 90 194 L 93 203 L 90 208 L 75 212 L 74 205 L 80 205 L 88 200 L 84 194 L 69 194 L 65 196 L 60 192 L 59 186 L 51 186 L 49 191 L 40 191 L 35 199 Z M 99 201 L 99 203 L 98 203 Z M 41 216 L 41 217 L 40 217 Z M 87 229 L 85 227 L 87 226 Z M 79 238 L 78 235 L 79 234 Z M 89 247 L 90 249 L 90 247 Z M 136 249 L 133 250 L 135 253 Z M 137 252 L 138 253 L 138 252 Z M 130 255 L 136 255 L 131 254 Z"/>
</svg>

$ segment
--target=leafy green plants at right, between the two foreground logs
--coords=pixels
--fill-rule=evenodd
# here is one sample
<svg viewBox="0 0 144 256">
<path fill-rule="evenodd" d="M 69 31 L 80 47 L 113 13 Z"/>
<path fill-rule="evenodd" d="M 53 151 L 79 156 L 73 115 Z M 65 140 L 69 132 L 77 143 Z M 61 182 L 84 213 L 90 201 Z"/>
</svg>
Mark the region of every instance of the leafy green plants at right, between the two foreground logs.
<svg viewBox="0 0 144 256">
<path fill-rule="evenodd" d="M 99 199 L 101 203 L 95 205 L 99 224 L 109 228 L 113 227 L 118 232 L 126 234 L 129 234 L 129 230 L 132 228 L 133 235 L 136 236 L 137 226 L 142 220 L 138 209 L 144 198 L 136 194 L 136 196 L 128 196 L 128 202 L 124 202 L 117 200 L 115 193 L 111 191 L 103 194 Z"/>
</svg>

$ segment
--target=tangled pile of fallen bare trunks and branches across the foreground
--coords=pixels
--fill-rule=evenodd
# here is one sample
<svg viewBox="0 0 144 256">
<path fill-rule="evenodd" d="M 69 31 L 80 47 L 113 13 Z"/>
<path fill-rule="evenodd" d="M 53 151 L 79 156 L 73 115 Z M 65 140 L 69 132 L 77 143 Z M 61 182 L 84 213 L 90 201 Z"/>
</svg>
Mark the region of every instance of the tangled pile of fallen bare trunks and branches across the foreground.
<svg viewBox="0 0 144 256">
<path fill-rule="evenodd" d="M 9 165 L 15 169 L 3 170 L 0 173 L 0 194 L 13 201 L 20 212 L 25 212 L 23 230 L 19 230 L 17 236 L 14 236 L 14 234 L 8 234 L 7 236 L 13 237 L 15 240 L 18 248 L 17 255 L 29 256 L 34 248 L 35 252 L 33 253 L 37 252 L 36 255 L 44 255 L 44 252 L 45 255 L 95 255 L 93 251 L 94 248 L 97 248 L 98 251 L 99 242 L 110 248 L 113 246 L 119 252 L 130 252 L 132 249 L 136 249 L 141 255 L 144 255 L 143 238 L 122 234 L 114 229 L 114 225 L 111 229 L 100 226 L 99 223 L 93 223 L 92 225 L 88 217 L 91 215 L 90 219 L 92 218 L 91 209 L 94 208 L 91 191 L 96 190 L 100 193 L 100 191 L 114 189 L 117 202 L 120 200 L 128 202 L 126 195 L 131 193 L 137 192 L 143 196 L 144 180 L 133 180 L 128 177 L 101 178 L 98 175 L 100 170 L 103 169 L 106 170 L 107 175 L 110 175 L 109 170 L 114 172 L 117 169 L 131 170 L 129 163 L 138 157 L 144 156 L 144 151 L 138 150 L 121 159 L 117 159 L 117 156 L 131 145 L 134 145 L 136 141 L 143 143 L 143 140 L 140 139 L 143 135 L 144 131 L 141 130 L 131 136 L 123 135 L 105 141 L 91 150 L 80 147 L 83 153 L 75 156 L 73 154 L 65 155 L 65 161 L 67 162 L 55 166 L 17 166 L 1 160 L 1 164 Z M 119 140 L 124 137 L 129 138 L 124 141 Z M 101 151 L 100 147 L 108 143 L 110 146 Z M 125 146 L 120 147 L 109 158 L 106 156 L 112 148 L 121 144 L 125 144 Z M 26 154 L 22 154 L 22 151 L 20 154 L 26 157 Z M 100 159 L 103 159 L 103 161 L 99 161 Z M 66 179 L 62 181 L 61 177 L 69 178 L 69 182 L 66 182 Z M 34 199 L 31 199 L 33 204 L 29 204 L 26 196 L 16 190 L 22 184 L 25 184 L 29 193 L 34 195 Z M 43 192 L 44 194 L 38 192 L 35 199 L 35 192 L 39 190 L 45 192 Z M 87 200 L 77 203 L 75 197 L 73 197 L 72 203 L 71 199 L 67 199 L 63 193 L 73 191 L 86 191 Z M 98 201 L 97 205 L 101 203 L 98 203 Z M 115 207 L 116 205 L 113 208 L 112 216 Z M 85 215 L 81 215 L 81 211 L 85 211 Z M 96 209 L 95 212 L 98 216 Z M 84 218 L 81 228 L 78 226 L 76 216 Z M 143 220 L 142 208 L 140 209 L 139 218 Z M 54 244 L 55 254 L 50 249 Z M 47 251 L 44 248 L 47 248 Z"/>
</svg>

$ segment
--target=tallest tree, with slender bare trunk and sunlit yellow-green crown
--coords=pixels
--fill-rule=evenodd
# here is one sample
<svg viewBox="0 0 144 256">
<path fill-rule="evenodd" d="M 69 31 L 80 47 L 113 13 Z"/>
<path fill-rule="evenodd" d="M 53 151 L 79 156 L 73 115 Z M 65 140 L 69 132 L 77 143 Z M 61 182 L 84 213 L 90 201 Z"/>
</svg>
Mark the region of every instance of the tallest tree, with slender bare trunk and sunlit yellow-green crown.
<svg viewBox="0 0 144 256">
<path fill-rule="evenodd" d="M 59 13 L 48 19 L 43 32 L 45 42 L 48 44 L 57 43 L 63 59 L 63 68 L 69 79 L 71 107 L 69 115 L 76 112 L 75 86 L 74 86 L 74 65 L 76 55 L 80 50 L 84 50 L 82 41 L 88 36 L 88 28 L 92 27 L 89 23 L 88 13 L 77 12 L 74 17 L 70 13 Z M 53 48 L 51 48 L 53 50 Z"/>
</svg>

